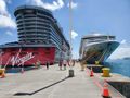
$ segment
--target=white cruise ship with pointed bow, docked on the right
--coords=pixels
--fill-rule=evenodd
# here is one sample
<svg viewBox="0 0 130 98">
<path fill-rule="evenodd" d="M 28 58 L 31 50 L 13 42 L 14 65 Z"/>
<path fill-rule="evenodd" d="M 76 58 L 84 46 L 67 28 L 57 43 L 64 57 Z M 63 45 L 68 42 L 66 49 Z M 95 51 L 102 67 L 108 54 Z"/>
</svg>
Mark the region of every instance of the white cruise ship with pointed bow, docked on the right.
<svg viewBox="0 0 130 98">
<path fill-rule="evenodd" d="M 119 46 L 115 36 L 91 34 L 81 38 L 79 58 L 83 63 L 102 63 Z"/>
</svg>

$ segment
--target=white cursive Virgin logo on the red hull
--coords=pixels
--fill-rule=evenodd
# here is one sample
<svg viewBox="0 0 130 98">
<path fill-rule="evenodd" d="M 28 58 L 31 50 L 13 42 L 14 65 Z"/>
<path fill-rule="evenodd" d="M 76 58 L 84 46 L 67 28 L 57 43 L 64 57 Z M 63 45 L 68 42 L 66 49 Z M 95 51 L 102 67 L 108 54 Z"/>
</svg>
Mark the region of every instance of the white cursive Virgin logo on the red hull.
<svg viewBox="0 0 130 98">
<path fill-rule="evenodd" d="M 17 53 L 16 56 L 13 56 L 11 58 L 11 63 L 14 66 L 15 64 L 17 65 L 24 65 L 25 62 L 27 62 L 28 60 L 32 59 L 35 56 L 32 56 L 32 52 L 28 53 L 24 57 L 20 58 L 20 53 Z"/>
</svg>

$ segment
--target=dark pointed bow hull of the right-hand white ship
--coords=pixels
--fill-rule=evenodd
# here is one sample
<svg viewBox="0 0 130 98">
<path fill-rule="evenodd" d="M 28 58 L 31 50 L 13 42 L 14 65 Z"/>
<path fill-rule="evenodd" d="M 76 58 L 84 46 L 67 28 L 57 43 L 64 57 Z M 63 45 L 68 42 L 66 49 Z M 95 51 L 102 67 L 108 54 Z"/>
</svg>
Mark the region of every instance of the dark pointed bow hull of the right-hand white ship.
<svg viewBox="0 0 130 98">
<path fill-rule="evenodd" d="M 84 63 L 103 63 L 118 46 L 118 41 L 112 40 L 87 45 L 81 60 Z"/>
</svg>

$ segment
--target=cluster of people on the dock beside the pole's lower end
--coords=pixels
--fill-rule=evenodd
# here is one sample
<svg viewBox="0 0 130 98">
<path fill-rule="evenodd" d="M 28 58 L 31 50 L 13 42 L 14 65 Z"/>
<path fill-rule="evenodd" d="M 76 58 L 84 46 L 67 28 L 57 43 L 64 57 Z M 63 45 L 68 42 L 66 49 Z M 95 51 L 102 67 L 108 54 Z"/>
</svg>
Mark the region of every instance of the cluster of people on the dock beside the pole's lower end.
<svg viewBox="0 0 130 98">
<path fill-rule="evenodd" d="M 60 70 L 62 70 L 62 68 L 64 68 L 64 70 L 66 70 L 66 66 L 70 66 L 70 65 L 75 65 L 75 60 L 72 60 L 72 61 L 67 61 L 67 60 L 60 60 L 60 63 L 58 63 L 58 66 L 60 66 Z"/>
</svg>

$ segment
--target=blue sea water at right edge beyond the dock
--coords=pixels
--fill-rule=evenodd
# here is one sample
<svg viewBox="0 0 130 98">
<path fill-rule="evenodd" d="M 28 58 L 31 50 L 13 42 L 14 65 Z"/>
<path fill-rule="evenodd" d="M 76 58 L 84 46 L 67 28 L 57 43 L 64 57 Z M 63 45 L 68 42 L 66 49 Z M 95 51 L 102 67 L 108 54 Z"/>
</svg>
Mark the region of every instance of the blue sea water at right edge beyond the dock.
<svg viewBox="0 0 130 98">
<path fill-rule="evenodd" d="M 113 73 L 119 73 L 130 77 L 130 58 L 107 60 L 104 65 L 110 68 L 110 72 Z"/>
</svg>

